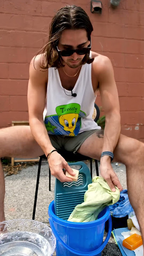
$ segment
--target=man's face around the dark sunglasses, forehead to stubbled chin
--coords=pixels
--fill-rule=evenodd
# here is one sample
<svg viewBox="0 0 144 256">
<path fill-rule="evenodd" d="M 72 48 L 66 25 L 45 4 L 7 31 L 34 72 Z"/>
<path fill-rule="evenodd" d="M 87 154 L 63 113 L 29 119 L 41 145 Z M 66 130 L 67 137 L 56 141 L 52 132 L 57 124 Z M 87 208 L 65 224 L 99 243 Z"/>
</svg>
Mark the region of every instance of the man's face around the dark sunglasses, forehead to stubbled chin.
<svg viewBox="0 0 144 256">
<path fill-rule="evenodd" d="M 87 39 L 87 33 L 85 29 L 64 30 L 59 39 L 58 49 L 80 49 L 87 47 L 89 44 L 90 41 Z M 77 68 L 84 57 L 85 55 L 78 55 L 77 53 L 73 53 L 73 55 L 62 57 L 62 59 L 70 68 Z"/>
</svg>

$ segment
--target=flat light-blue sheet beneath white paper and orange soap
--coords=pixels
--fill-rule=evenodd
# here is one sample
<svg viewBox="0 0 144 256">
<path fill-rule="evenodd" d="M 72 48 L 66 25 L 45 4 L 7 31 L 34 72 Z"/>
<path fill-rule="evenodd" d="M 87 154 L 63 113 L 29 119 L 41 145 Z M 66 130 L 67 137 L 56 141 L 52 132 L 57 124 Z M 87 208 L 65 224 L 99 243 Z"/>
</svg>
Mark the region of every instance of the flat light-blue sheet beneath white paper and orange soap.
<svg viewBox="0 0 144 256">
<path fill-rule="evenodd" d="M 122 243 L 124 237 L 121 235 L 122 232 L 127 232 L 129 231 L 128 228 L 120 228 L 120 229 L 114 229 L 112 231 L 114 238 L 117 241 L 118 247 L 122 253 L 123 256 L 135 256 L 134 251 L 130 251 L 127 248 L 125 248 Z"/>
</svg>

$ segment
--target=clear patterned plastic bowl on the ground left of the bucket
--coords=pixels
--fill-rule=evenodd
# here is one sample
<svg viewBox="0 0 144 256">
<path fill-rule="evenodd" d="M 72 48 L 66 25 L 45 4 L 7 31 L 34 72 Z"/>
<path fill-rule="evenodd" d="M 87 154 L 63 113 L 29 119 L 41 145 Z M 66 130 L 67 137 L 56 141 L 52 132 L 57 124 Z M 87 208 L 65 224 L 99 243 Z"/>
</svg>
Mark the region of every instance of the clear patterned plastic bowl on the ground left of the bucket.
<svg viewBox="0 0 144 256">
<path fill-rule="evenodd" d="M 1 256 L 52 256 L 56 239 L 52 230 L 35 220 L 0 222 Z"/>
</svg>

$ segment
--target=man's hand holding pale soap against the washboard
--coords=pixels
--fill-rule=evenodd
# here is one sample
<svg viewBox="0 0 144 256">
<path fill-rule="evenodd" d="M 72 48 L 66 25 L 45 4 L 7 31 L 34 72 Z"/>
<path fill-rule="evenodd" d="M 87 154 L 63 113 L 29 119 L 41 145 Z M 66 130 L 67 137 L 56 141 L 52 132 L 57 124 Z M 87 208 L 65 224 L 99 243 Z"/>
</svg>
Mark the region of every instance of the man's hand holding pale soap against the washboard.
<svg viewBox="0 0 144 256">
<path fill-rule="evenodd" d="M 71 178 L 67 178 L 63 169 L 69 172 L 70 175 L 75 175 L 65 159 L 57 152 L 54 151 L 48 159 L 51 174 L 61 182 L 71 182 Z"/>
</svg>

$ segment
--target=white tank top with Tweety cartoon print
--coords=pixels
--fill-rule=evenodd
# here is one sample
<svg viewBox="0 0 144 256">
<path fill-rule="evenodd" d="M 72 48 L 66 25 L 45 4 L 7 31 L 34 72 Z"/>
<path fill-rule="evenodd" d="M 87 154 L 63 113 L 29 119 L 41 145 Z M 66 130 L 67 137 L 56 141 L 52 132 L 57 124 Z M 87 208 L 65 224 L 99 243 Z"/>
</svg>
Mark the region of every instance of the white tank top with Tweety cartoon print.
<svg viewBox="0 0 144 256">
<path fill-rule="evenodd" d="M 58 69 L 48 69 L 44 123 L 49 134 L 76 136 L 88 130 L 101 129 L 92 119 L 96 96 L 91 82 L 91 64 L 82 65 L 74 93 L 76 97 L 71 96 L 71 91 L 64 91 Z"/>
</svg>

